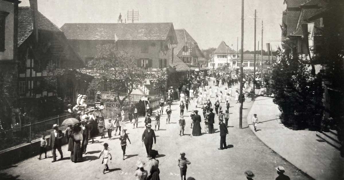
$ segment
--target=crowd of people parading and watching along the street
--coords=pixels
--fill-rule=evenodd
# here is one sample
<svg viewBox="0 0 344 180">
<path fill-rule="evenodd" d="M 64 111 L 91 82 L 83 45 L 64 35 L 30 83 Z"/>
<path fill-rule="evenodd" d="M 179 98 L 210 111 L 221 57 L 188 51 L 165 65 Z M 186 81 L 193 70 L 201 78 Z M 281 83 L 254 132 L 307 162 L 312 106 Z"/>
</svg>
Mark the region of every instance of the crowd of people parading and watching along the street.
<svg viewBox="0 0 344 180">
<path fill-rule="evenodd" d="M 137 180 L 159 180 L 159 160 L 157 160 L 157 156 L 159 155 L 157 150 L 153 149 L 153 144 L 156 144 L 157 142 L 157 136 L 155 136 L 155 132 L 157 130 L 160 130 L 160 119 L 162 118 L 162 115 L 166 113 L 166 124 L 170 124 L 171 120 L 171 105 L 175 100 L 177 100 L 177 103 L 179 105 L 179 116 L 180 119 L 178 120 L 179 123 L 179 135 L 184 135 L 185 126 L 187 124 L 190 124 L 190 128 L 192 128 L 192 136 L 201 136 L 202 132 L 201 129 L 204 127 L 205 131 L 209 134 L 215 133 L 214 131 L 214 124 L 215 124 L 215 118 L 218 119 L 218 125 L 219 125 L 219 135 L 220 135 L 220 146 L 219 150 L 227 149 L 226 144 L 226 135 L 228 134 L 228 120 L 229 120 L 229 111 L 230 111 L 230 103 L 232 102 L 232 97 L 234 97 L 234 100 L 236 103 L 238 103 L 239 95 L 238 91 L 235 92 L 234 89 L 232 89 L 232 86 L 238 83 L 238 78 L 236 76 L 231 77 L 227 74 L 218 74 L 216 78 L 214 79 L 214 88 L 212 86 L 209 86 L 208 80 L 206 77 L 198 76 L 194 78 L 197 80 L 197 83 L 194 83 L 193 85 L 182 85 L 179 88 L 173 88 L 170 87 L 168 92 L 166 93 L 166 100 L 164 101 L 161 99 L 159 103 L 159 109 L 154 112 L 154 116 L 152 109 L 148 108 L 146 110 L 146 116 L 144 118 L 144 124 L 145 129 L 143 130 L 142 134 L 142 145 L 144 144 L 146 148 L 147 157 L 149 160 L 147 162 L 144 161 L 138 161 L 137 162 L 137 170 L 134 172 L 134 175 L 136 176 Z M 221 82 L 221 84 L 220 84 Z M 227 83 L 227 86 L 225 84 Z M 179 94 L 180 92 L 180 94 Z M 176 94 L 178 93 L 178 94 Z M 100 92 L 97 92 L 97 95 L 99 95 Z M 215 95 L 215 97 L 214 97 Z M 80 97 L 80 98 L 79 98 Z M 177 97 L 177 98 L 176 98 Z M 76 119 L 78 119 L 78 123 L 71 124 L 67 127 L 65 133 L 62 133 L 61 130 L 58 129 L 58 125 L 53 126 L 53 131 L 51 132 L 50 143 L 47 143 L 44 139 L 44 136 L 41 140 L 41 149 L 40 152 L 45 152 L 46 156 L 46 150 L 45 146 L 51 145 L 52 146 L 52 152 L 53 152 L 53 161 L 56 161 L 56 149 L 60 152 L 61 159 L 63 159 L 63 152 L 61 150 L 62 146 L 62 138 L 66 136 L 68 141 L 68 151 L 71 152 L 70 159 L 73 162 L 82 162 L 83 161 L 83 155 L 87 154 L 87 144 L 88 141 L 94 142 L 93 138 L 97 135 L 100 136 L 100 138 L 105 138 L 104 131 L 107 131 L 107 136 L 109 140 L 112 137 L 112 130 L 115 131 L 115 136 L 117 134 L 117 130 L 119 129 L 118 135 L 120 136 L 120 146 L 122 149 L 122 156 L 123 160 L 125 160 L 125 153 L 126 153 L 126 147 L 127 147 L 127 140 L 131 144 L 131 141 L 129 139 L 128 134 L 126 133 L 127 129 L 122 129 L 121 127 L 123 125 L 124 112 L 121 112 L 117 114 L 116 119 L 108 119 L 108 123 L 105 124 L 104 114 L 102 110 L 105 108 L 103 103 L 101 103 L 101 97 L 96 96 L 97 100 L 99 102 L 96 103 L 96 106 L 93 107 L 87 107 L 87 105 L 84 103 L 84 99 L 86 98 L 85 95 L 78 95 L 77 99 L 77 105 L 73 107 L 73 110 L 69 110 L 71 112 L 76 112 L 78 116 Z M 215 102 L 211 102 L 211 98 L 215 98 Z M 244 99 L 244 97 L 242 98 Z M 178 101 L 179 100 L 179 101 Z M 243 100 L 244 101 L 244 100 Z M 225 103 L 225 106 L 222 107 L 220 103 Z M 164 110 L 164 106 L 167 104 L 166 109 Z M 186 115 L 184 116 L 184 110 L 186 108 L 186 112 L 190 112 L 190 116 Z M 198 114 L 197 108 L 201 108 L 203 112 L 203 117 Z M 224 109 L 223 109 L 224 108 Z M 214 113 L 215 109 L 215 113 Z M 225 111 L 225 113 L 223 113 Z M 130 103 L 130 106 L 127 111 L 129 123 L 133 124 L 133 129 L 138 128 L 138 114 L 137 114 L 137 108 L 134 107 L 133 103 Z M 151 117 L 155 118 L 155 124 L 154 124 L 154 130 L 152 129 L 152 119 Z M 186 118 L 185 117 L 190 117 Z M 204 125 L 201 125 L 203 119 Z M 113 122 L 113 123 L 112 123 Z M 189 123 L 187 123 L 189 122 Z M 258 124 L 258 118 L 257 115 L 252 118 L 252 123 L 254 124 L 255 130 Z M 122 132 L 122 135 L 121 135 Z M 102 157 L 103 161 L 102 164 L 104 166 L 103 173 L 106 173 L 106 171 L 109 171 L 109 160 L 112 160 L 111 152 L 109 145 L 107 143 L 104 143 L 104 149 L 101 151 L 98 158 Z M 41 158 L 41 155 L 39 159 Z M 186 180 L 186 169 L 187 165 L 190 165 L 189 159 L 185 157 L 185 153 L 180 153 L 180 158 L 178 159 L 178 167 L 180 168 L 180 176 L 181 179 Z M 280 176 L 283 176 L 284 169 L 283 167 L 278 167 L 277 171 L 279 174 L 282 174 Z M 245 175 L 247 179 L 252 179 L 254 177 L 254 174 L 252 171 L 246 171 Z M 190 179 L 190 178 L 188 178 Z"/>
</svg>

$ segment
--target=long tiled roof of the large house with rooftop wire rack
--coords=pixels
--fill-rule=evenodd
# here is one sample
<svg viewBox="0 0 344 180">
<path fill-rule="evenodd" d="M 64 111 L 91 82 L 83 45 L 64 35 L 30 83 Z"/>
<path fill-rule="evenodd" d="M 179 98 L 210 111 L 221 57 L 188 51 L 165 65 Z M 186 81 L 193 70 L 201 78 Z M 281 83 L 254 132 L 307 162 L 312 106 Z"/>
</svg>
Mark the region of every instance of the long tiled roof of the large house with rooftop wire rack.
<svg viewBox="0 0 344 180">
<path fill-rule="evenodd" d="M 65 23 L 61 30 L 69 40 L 166 40 L 169 23 Z"/>
</svg>

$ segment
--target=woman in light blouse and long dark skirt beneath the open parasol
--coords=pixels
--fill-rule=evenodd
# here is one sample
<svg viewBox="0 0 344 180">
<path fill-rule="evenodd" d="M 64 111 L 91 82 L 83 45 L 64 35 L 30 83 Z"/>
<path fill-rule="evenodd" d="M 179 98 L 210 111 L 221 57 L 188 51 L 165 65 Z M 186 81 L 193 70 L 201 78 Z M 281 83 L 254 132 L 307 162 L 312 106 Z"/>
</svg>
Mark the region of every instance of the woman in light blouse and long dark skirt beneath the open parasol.
<svg viewBox="0 0 344 180">
<path fill-rule="evenodd" d="M 83 152 L 81 150 L 82 148 L 82 141 L 83 141 L 83 134 L 81 133 L 81 127 L 75 126 L 74 132 L 73 132 L 73 151 L 71 155 L 71 160 L 73 162 L 82 162 L 83 161 Z"/>
</svg>

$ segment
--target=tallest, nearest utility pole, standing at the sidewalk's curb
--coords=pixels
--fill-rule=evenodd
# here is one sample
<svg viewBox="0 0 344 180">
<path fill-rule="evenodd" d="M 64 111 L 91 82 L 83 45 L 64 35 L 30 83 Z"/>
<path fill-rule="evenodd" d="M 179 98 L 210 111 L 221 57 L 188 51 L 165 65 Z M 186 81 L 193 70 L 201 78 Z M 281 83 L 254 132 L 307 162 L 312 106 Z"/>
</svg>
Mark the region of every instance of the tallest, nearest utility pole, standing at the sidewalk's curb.
<svg viewBox="0 0 344 180">
<path fill-rule="evenodd" d="M 239 128 L 243 128 L 243 76 L 244 76 L 244 0 L 241 0 L 241 53 L 240 53 L 240 109 L 239 109 Z"/>
</svg>

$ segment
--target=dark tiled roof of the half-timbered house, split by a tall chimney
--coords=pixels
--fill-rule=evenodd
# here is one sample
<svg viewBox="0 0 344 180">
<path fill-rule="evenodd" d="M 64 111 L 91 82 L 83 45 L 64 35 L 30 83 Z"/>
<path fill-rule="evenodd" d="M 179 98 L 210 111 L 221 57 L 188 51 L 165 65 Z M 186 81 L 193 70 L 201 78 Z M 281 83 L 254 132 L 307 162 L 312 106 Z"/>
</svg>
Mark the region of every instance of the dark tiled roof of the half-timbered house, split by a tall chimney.
<svg viewBox="0 0 344 180">
<path fill-rule="evenodd" d="M 31 35 L 33 27 L 30 7 L 19 7 L 18 10 L 18 46 L 20 46 Z M 40 12 L 38 12 L 38 29 L 62 32 Z"/>
</svg>

